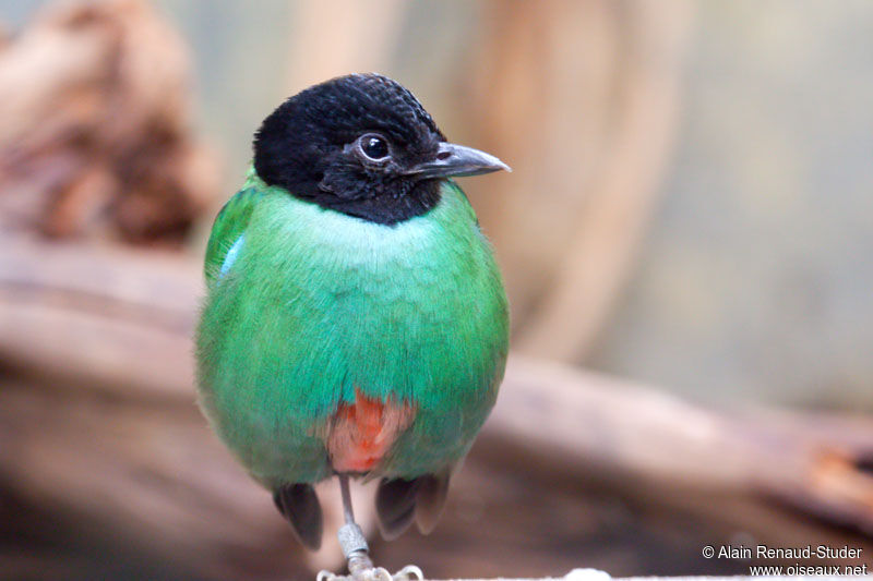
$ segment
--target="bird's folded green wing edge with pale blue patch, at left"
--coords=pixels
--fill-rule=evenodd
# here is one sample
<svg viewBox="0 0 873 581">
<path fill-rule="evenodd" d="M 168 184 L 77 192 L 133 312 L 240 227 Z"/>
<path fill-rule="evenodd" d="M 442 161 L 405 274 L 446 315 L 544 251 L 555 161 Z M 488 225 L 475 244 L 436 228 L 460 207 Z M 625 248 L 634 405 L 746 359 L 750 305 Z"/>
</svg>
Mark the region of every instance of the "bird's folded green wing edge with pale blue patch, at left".
<svg viewBox="0 0 873 581">
<path fill-rule="evenodd" d="M 252 210 L 262 197 L 263 192 L 259 187 L 243 187 L 227 201 L 216 216 L 203 265 L 208 288 L 212 289 L 232 264 L 235 254 L 243 242 Z"/>
</svg>

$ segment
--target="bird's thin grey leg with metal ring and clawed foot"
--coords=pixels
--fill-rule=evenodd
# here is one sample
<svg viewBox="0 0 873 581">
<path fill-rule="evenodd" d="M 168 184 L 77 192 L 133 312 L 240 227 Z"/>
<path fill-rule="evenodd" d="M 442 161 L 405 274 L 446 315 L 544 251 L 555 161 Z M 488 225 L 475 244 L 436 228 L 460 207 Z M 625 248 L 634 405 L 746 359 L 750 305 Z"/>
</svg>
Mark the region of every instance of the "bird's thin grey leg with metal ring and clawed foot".
<svg viewBox="0 0 873 581">
<path fill-rule="evenodd" d="M 351 493 L 348 485 L 348 474 L 337 474 L 339 479 L 339 491 L 343 496 L 343 516 L 346 523 L 336 533 L 339 538 L 339 547 L 346 556 L 349 576 L 338 577 L 330 571 L 320 571 L 316 581 L 338 581 L 350 579 L 352 581 L 411 581 L 418 579 L 423 581 L 424 576 L 421 569 L 415 565 L 407 565 L 393 576 L 384 567 L 373 567 L 370 558 L 370 546 L 363 531 L 355 522 L 355 512 L 351 510 Z"/>
</svg>

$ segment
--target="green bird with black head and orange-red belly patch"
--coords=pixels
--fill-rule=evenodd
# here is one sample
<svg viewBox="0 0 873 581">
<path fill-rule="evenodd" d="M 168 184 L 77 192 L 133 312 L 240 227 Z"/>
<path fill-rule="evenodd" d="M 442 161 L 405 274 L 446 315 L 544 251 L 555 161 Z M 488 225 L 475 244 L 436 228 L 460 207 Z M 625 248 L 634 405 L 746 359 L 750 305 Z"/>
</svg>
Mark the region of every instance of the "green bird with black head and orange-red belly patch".
<svg viewBox="0 0 873 581">
<path fill-rule="evenodd" d="M 214 221 L 200 407 L 310 549 L 323 534 L 313 485 L 337 477 L 348 579 L 392 578 L 369 556 L 349 481 L 379 481 L 386 540 L 412 521 L 429 533 L 497 400 L 506 294 L 453 178 L 499 170 L 511 171 L 450 143 L 399 83 L 349 74 L 264 119 Z M 393 576 L 410 577 L 420 569 Z"/>
</svg>

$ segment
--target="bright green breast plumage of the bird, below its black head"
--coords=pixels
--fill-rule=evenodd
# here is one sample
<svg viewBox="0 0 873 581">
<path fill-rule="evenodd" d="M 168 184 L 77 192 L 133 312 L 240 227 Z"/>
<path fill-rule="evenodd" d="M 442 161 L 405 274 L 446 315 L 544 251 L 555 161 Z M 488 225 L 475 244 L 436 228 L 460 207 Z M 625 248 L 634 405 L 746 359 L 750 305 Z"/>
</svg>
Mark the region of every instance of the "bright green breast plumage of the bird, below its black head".
<svg viewBox="0 0 873 581">
<path fill-rule="evenodd" d="M 198 361 L 204 410 L 252 474 L 268 486 L 330 475 L 324 425 L 356 388 L 418 408 L 380 474 L 463 457 L 507 349 L 500 273 L 463 192 L 446 182 L 433 210 L 394 227 L 256 178 L 239 196 L 210 242 Z"/>
</svg>

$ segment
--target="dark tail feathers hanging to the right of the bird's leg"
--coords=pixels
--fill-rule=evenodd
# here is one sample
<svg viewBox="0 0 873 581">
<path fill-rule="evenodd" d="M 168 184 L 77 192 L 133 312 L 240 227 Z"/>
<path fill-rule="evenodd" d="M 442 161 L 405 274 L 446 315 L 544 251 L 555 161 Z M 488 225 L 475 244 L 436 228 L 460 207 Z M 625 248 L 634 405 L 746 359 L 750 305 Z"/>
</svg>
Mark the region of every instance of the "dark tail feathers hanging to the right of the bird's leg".
<svg viewBox="0 0 873 581">
<path fill-rule="evenodd" d="M 382 537 L 392 541 L 412 523 L 430 533 L 443 511 L 449 492 L 449 471 L 412 480 L 382 479 L 375 493 L 375 513 Z"/>
</svg>

